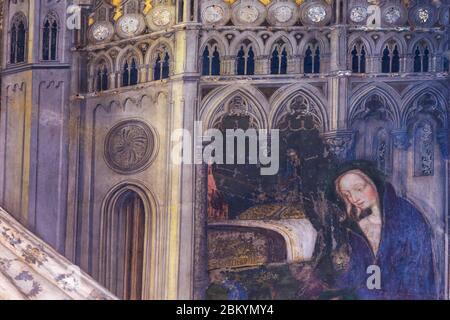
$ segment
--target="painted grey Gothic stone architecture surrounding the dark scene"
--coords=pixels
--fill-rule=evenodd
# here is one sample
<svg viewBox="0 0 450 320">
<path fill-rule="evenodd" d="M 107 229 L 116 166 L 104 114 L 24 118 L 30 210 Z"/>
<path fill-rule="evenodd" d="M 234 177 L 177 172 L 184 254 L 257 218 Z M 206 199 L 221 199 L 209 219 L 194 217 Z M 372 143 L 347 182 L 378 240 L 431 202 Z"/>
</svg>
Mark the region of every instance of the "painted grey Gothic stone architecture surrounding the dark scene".
<svg viewBox="0 0 450 320">
<path fill-rule="evenodd" d="M 309 126 L 374 161 L 432 226 L 449 297 L 450 2 L 1 3 L 0 206 L 119 298 L 204 298 L 208 211 L 253 205 L 171 161 L 195 121 Z"/>
</svg>

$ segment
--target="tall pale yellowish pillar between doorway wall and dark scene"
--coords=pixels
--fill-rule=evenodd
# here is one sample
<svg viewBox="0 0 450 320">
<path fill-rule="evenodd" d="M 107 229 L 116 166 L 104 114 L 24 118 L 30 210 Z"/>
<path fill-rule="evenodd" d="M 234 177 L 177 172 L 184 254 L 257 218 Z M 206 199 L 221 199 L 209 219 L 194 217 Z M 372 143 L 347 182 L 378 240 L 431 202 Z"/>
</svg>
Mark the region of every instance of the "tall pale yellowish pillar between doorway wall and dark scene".
<svg viewBox="0 0 450 320">
<path fill-rule="evenodd" d="M 198 30 L 186 24 L 176 28 L 174 75 L 171 78 L 172 104 L 169 131 L 185 129 L 194 132 L 196 120 L 198 81 L 197 73 Z M 168 143 L 172 150 L 176 142 Z M 170 161 L 170 160 L 169 160 Z M 171 163 L 168 172 L 168 193 L 164 214 L 168 218 L 165 271 L 165 299 L 192 299 L 194 292 L 195 260 L 195 166 L 188 163 Z"/>
</svg>

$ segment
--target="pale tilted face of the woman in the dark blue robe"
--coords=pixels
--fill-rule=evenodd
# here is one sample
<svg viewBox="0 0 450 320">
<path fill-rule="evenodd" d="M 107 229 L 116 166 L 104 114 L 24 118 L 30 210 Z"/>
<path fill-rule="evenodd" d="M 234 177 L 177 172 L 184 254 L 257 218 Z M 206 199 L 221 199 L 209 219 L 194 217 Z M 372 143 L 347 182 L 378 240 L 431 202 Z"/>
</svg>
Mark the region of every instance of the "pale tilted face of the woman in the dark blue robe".
<svg viewBox="0 0 450 320">
<path fill-rule="evenodd" d="M 344 174 L 338 182 L 338 188 L 346 202 L 355 206 L 359 211 L 375 206 L 378 193 L 373 185 L 356 173 Z"/>
</svg>

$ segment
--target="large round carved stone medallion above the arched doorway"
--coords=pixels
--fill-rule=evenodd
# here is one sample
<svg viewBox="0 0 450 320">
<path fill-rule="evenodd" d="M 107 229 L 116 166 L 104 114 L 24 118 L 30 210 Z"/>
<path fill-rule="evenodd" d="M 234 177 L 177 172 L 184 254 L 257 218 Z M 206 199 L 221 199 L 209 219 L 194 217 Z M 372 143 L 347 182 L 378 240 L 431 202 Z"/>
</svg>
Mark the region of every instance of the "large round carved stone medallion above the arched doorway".
<svg viewBox="0 0 450 320">
<path fill-rule="evenodd" d="M 105 140 L 105 159 L 114 171 L 135 173 L 149 164 L 155 151 L 155 136 L 150 127 L 139 120 L 116 124 Z"/>
</svg>

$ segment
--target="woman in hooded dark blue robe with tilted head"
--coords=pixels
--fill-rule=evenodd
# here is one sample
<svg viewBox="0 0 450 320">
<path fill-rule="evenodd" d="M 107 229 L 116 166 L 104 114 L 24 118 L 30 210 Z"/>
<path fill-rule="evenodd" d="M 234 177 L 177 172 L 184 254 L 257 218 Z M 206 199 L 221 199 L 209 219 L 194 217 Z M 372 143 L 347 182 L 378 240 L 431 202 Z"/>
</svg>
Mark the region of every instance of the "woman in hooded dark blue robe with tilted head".
<svg viewBox="0 0 450 320">
<path fill-rule="evenodd" d="M 432 230 L 424 216 L 367 163 L 355 165 L 333 179 L 335 200 L 345 207 L 334 287 L 365 300 L 437 299 Z"/>
</svg>

